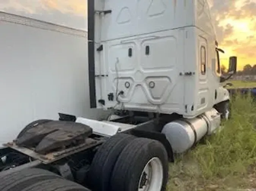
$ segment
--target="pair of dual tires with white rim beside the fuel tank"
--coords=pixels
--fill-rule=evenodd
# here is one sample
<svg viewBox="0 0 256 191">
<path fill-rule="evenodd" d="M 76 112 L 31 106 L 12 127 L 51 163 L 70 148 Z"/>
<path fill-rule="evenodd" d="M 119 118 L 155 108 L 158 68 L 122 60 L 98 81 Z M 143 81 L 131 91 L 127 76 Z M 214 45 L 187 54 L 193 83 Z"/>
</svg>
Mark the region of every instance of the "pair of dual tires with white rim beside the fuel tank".
<svg viewBox="0 0 256 191">
<path fill-rule="evenodd" d="M 90 177 L 97 191 L 164 191 L 167 152 L 156 140 L 117 134 L 96 152 Z"/>
</svg>

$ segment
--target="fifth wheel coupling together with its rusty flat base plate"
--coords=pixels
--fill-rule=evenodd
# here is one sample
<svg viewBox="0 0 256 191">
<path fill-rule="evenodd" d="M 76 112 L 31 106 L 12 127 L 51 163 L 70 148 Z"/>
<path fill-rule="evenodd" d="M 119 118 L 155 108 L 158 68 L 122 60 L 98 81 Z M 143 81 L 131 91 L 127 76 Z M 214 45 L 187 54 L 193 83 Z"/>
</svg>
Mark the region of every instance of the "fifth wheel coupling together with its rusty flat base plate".
<svg viewBox="0 0 256 191">
<path fill-rule="evenodd" d="M 51 121 L 33 126 L 4 146 L 48 164 L 104 142 L 90 138 L 92 133 L 92 128 L 82 123 Z"/>
</svg>

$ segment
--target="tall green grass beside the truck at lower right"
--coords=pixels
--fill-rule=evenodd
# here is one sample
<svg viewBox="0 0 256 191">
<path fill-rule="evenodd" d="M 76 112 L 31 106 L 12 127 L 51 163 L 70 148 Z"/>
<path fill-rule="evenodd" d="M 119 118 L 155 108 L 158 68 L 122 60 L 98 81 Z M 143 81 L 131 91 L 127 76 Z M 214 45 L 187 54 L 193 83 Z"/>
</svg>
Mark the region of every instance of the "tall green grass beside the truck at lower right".
<svg viewBox="0 0 256 191">
<path fill-rule="evenodd" d="M 256 188 L 256 105 L 238 96 L 231 112 L 220 132 L 170 164 L 168 191 Z"/>
</svg>

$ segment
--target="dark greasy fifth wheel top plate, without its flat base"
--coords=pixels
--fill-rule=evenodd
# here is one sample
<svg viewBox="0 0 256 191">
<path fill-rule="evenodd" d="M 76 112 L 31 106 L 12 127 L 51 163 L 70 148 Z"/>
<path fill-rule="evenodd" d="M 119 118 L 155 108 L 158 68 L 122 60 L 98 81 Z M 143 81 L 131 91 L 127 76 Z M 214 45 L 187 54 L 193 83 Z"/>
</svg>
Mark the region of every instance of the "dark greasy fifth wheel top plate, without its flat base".
<svg viewBox="0 0 256 191">
<path fill-rule="evenodd" d="M 34 126 L 14 142 L 17 146 L 35 148 L 35 152 L 45 155 L 81 145 L 92 133 L 92 128 L 82 123 L 52 121 Z"/>
</svg>

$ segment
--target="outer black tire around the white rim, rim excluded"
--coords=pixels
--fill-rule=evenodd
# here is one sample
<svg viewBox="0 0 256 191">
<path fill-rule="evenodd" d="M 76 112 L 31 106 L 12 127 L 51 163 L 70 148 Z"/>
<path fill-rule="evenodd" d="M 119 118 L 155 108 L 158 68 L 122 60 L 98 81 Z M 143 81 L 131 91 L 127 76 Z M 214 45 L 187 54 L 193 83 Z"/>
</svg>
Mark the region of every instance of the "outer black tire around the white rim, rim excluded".
<svg viewBox="0 0 256 191">
<path fill-rule="evenodd" d="M 168 181 L 168 156 L 165 147 L 156 140 L 137 138 L 121 152 L 113 169 L 111 191 L 138 190 L 144 166 L 157 157 L 162 163 L 163 181 L 161 191 L 165 191 Z M 160 191 L 155 190 L 155 191 Z"/>
</svg>

